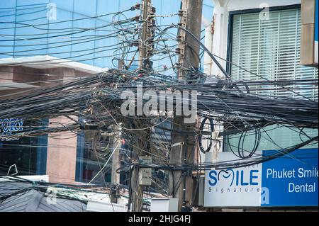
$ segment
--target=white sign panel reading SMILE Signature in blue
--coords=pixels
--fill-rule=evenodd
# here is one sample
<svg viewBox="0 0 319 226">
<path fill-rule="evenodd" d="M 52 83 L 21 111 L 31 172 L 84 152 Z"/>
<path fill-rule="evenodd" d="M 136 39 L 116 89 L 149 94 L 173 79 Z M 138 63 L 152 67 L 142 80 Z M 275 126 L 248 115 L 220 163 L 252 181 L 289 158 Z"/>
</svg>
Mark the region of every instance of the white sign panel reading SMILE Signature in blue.
<svg viewBox="0 0 319 226">
<path fill-rule="evenodd" d="M 232 152 L 218 154 L 218 162 L 228 160 L 234 160 Z M 261 178 L 261 164 L 208 170 L 205 172 L 204 206 L 260 206 Z"/>
</svg>

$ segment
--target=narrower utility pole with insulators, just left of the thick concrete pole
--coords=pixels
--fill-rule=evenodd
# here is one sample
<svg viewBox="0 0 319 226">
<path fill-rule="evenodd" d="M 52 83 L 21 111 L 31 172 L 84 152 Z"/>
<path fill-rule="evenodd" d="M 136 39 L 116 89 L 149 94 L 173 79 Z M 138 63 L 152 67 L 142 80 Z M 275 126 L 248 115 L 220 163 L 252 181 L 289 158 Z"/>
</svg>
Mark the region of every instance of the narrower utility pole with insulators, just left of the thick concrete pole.
<svg viewBox="0 0 319 226">
<path fill-rule="evenodd" d="M 141 6 L 141 19 L 142 19 L 142 27 L 141 27 L 141 34 L 139 40 L 139 67 L 142 72 L 147 72 L 152 65 L 150 64 L 150 60 L 148 58 L 152 54 L 152 30 L 153 30 L 153 23 L 154 18 L 152 15 L 155 13 L 155 8 L 152 7 L 151 0 L 143 0 Z M 141 159 L 144 157 L 144 153 L 142 152 L 143 149 L 147 148 L 148 145 L 145 145 L 146 140 L 143 139 L 143 135 L 136 131 L 135 137 L 138 139 L 138 143 L 135 143 L 136 149 L 135 152 L 138 153 L 138 163 L 140 163 Z M 134 167 L 132 171 L 132 176 L 130 180 L 131 187 L 131 200 L 132 200 L 132 212 L 142 212 L 142 204 L 143 204 L 143 190 L 144 184 L 142 182 L 142 173 L 144 173 L 144 169 L 138 169 L 138 167 Z"/>
</svg>

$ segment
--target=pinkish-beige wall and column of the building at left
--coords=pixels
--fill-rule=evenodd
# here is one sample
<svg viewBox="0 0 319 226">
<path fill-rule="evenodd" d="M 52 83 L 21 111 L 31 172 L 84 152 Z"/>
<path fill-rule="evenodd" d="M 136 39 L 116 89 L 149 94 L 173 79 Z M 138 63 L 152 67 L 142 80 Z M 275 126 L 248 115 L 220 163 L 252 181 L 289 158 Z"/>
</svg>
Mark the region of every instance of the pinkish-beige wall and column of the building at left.
<svg viewBox="0 0 319 226">
<path fill-rule="evenodd" d="M 30 67 L 0 66 L 0 86 L 8 83 L 35 82 L 38 87 L 62 84 L 72 77 L 89 76 L 90 74 L 80 72 L 71 68 L 34 69 Z M 48 80 L 64 79 L 63 81 Z M 26 95 L 33 89 L 1 89 L 0 99 L 13 98 L 16 95 Z M 77 118 L 74 118 L 77 120 Z M 52 118 L 50 127 L 59 126 L 62 123 L 74 123 L 65 117 Z M 47 140 L 47 171 L 49 181 L 52 183 L 76 183 L 75 170 L 77 161 L 77 135 L 72 132 L 59 132 L 48 135 Z"/>
</svg>

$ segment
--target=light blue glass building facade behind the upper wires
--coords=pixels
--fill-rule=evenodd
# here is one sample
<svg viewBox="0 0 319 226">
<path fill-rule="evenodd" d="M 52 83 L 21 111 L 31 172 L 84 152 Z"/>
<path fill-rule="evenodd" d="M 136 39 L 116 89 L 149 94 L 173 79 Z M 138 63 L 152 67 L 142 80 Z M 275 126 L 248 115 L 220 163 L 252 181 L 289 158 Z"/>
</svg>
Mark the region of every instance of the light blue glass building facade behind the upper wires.
<svg viewBox="0 0 319 226">
<path fill-rule="evenodd" d="M 50 55 L 97 67 L 113 67 L 112 55 L 119 38 L 112 21 L 136 16 L 106 15 L 125 11 L 140 1 L 123 0 L 9 0 L 0 6 L 0 58 Z M 213 15 L 211 1 L 204 1 L 203 16 Z M 177 13 L 179 0 L 153 1 L 159 15 Z M 86 18 L 86 19 L 83 19 Z M 159 25 L 178 23 L 178 16 L 159 17 Z M 98 29 L 94 29 L 98 28 Z M 86 29 L 86 30 L 83 30 Z M 113 48 L 112 48 L 113 47 Z"/>
</svg>

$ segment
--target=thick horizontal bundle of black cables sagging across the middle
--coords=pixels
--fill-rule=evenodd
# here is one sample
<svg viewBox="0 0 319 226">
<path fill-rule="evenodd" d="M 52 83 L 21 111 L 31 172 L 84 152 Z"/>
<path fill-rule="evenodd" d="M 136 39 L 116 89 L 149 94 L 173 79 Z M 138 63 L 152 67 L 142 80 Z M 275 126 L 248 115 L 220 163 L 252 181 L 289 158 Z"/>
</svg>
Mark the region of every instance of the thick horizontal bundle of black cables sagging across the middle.
<svg viewBox="0 0 319 226">
<path fill-rule="evenodd" d="M 158 95 L 160 91 L 167 90 L 196 91 L 198 115 L 208 117 L 211 129 L 213 129 L 212 118 L 223 125 L 228 125 L 222 135 L 249 130 L 259 131 L 258 128 L 266 124 L 276 123 L 300 128 L 318 128 L 318 105 L 315 101 L 244 94 L 237 89 L 220 89 L 218 87 L 220 84 L 211 83 L 200 86 L 183 84 L 164 74 L 141 74 L 119 69 L 111 69 L 93 77 L 77 79 L 48 89 L 38 89 L 29 95 L 0 101 L 0 113 L 5 118 L 28 118 L 28 120 L 65 116 L 72 122 L 68 125 L 35 130 L 30 128 L 23 133 L 11 135 L 12 137 L 75 131 L 87 128 L 90 124 L 96 125 L 101 131 L 108 130 L 112 125 L 117 125 L 125 132 L 147 130 L 162 124 L 156 125 L 156 119 L 164 120 L 167 117 L 151 115 L 147 117 L 149 118 L 147 120 L 143 115 L 142 120 L 145 120 L 143 123 L 136 117 L 121 114 L 123 91 L 130 89 L 136 94 L 139 82 L 143 84 L 143 91 L 154 91 Z M 146 102 L 147 100 L 144 100 L 144 103 Z M 167 111 L 168 109 L 157 110 Z M 138 125 L 134 125 L 135 127 L 130 125 L 130 128 L 120 125 L 121 123 L 126 125 L 128 121 L 133 124 L 138 122 Z M 201 123 L 200 130 L 203 129 L 205 122 Z M 10 136 L 6 138 L 9 139 Z"/>
</svg>

